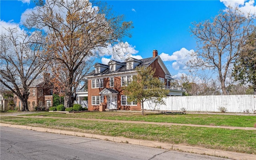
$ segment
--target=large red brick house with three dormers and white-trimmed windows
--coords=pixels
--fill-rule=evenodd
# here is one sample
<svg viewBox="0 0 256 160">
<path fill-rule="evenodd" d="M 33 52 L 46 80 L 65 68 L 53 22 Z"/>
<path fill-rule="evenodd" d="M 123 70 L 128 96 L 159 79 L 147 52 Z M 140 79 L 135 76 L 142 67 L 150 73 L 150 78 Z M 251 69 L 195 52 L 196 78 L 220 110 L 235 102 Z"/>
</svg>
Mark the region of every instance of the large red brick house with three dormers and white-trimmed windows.
<svg viewBox="0 0 256 160">
<path fill-rule="evenodd" d="M 171 88 L 171 74 L 158 56 L 158 51 L 153 50 L 153 57 L 134 59 L 128 57 L 124 62 L 110 60 L 108 65 L 96 63 L 95 70 L 85 76 L 88 79 L 88 110 L 98 110 L 101 103 L 106 104 L 106 109 L 141 110 L 140 103 L 127 102 L 122 86 L 125 86 L 136 75 L 136 66 L 151 66 L 156 69 L 155 76 L 165 82 L 170 90 L 169 96 L 181 96 L 182 90 Z"/>
</svg>

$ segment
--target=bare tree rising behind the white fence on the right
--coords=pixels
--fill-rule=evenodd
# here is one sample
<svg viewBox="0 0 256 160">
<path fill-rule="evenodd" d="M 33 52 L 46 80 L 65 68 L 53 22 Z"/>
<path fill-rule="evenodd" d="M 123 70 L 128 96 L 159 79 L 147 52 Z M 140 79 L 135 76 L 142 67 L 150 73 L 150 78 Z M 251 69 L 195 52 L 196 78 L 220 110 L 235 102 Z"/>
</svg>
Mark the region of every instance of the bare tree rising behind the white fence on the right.
<svg viewBox="0 0 256 160">
<path fill-rule="evenodd" d="M 253 31 L 252 16 L 244 16 L 238 8 L 229 7 L 215 18 L 192 23 L 191 33 L 197 40 L 197 51 L 190 56 L 188 66 L 218 73 L 222 93 L 227 95 L 226 77 Z"/>
</svg>

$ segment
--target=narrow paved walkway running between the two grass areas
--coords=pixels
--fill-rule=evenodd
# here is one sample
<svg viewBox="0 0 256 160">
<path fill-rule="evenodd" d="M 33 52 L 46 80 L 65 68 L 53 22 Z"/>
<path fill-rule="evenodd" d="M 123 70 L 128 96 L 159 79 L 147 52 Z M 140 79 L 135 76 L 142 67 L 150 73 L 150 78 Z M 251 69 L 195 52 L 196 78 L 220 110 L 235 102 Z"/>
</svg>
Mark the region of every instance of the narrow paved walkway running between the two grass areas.
<svg viewBox="0 0 256 160">
<path fill-rule="evenodd" d="M 15 117 L 28 117 L 13 115 Z M 153 124 L 153 125 L 179 125 L 190 127 L 208 127 L 208 128 L 222 128 L 222 129 L 242 129 L 242 130 L 256 130 L 254 127 L 230 127 L 230 126 L 214 126 L 214 125 L 193 125 L 193 124 L 180 124 L 180 123 L 164 123 L 164 122 L 147 122 L 147 121 L 122 121 L 122 120 L 109 120 L 109 119 L 88 119 L 88 118 L 61 118 L 61 117 L 43 117 L 43 116 L 29 116 L 33 118 L 51 118 L 51 119 L 78 119 L 87 121 L 103 121 L 103 122 L 116 122 L 116 123 L 134 123 L 134 124 Z"/>
</svg>

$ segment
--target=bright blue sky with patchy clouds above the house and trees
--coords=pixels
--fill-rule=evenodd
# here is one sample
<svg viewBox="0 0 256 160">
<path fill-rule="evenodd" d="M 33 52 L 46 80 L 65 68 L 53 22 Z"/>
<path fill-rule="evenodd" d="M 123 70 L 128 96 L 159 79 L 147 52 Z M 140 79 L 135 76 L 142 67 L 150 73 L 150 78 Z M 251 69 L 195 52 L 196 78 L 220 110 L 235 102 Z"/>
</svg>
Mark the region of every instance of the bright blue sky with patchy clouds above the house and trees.
<svg viewBox="0 0 256 160">
<path fill-rule="evenodd" d="M 225 9 L 228 4 L 239 6 L 242 12 L 256 10 L 254 0 L 108 0 L 108 5 L 116 14 L 124 14 L 126 21 L 133 21 L 132 38 L 124 38 L 131 57 L 142 59 L 152 57 L 152 50 L 166 64 L 173 76 L 187 73 L 185 66 L 188 53 L 196 51 L 196 41 L 189 32 L 191 22 L 208 20 Z M 22 28 L 22 13 L 32 9 L 32 0 L 1 0 L 0 25 Z M 2 27 L 1 33 L 2 33 Z M 96 59 L 106 64 L 111 56 Z M 116 59 L 118 60 L 118 59 Z"/>
</svg>

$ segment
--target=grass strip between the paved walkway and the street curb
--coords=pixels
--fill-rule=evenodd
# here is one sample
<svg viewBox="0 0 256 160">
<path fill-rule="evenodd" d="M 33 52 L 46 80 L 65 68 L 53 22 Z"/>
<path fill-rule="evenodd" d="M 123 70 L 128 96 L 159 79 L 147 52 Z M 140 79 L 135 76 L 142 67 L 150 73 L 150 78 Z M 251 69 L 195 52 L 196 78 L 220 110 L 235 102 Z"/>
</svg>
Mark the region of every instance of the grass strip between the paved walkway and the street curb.
<svg viewBox="0 0 256 160">
<path fill-rule="evenodd" d="M 256 154 L 256 131 L 11 116 L 1 122 Z"/>
</svg>

